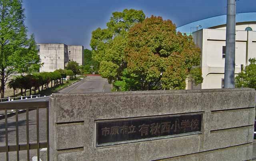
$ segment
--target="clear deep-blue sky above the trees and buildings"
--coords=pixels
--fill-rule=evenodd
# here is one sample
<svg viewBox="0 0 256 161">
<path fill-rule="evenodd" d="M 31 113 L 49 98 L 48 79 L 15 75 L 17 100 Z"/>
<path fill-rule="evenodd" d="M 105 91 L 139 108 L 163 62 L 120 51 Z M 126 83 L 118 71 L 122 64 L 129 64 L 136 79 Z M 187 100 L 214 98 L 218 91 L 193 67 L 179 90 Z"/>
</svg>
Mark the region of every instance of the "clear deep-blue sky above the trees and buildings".
<svg viewBox="0 0 256 161">
<path fill-rule="evenodd" d="M 91 33 L 106 28 L 112 12 L 143 10 L 181 26 L 226 14 L 226 0 L 23 0 L 28 34 L 38 43 L 83 45 L 90 49 Z M 236 12 L 256 12 L 256 0 L 239 0 Z"/>
</svg>

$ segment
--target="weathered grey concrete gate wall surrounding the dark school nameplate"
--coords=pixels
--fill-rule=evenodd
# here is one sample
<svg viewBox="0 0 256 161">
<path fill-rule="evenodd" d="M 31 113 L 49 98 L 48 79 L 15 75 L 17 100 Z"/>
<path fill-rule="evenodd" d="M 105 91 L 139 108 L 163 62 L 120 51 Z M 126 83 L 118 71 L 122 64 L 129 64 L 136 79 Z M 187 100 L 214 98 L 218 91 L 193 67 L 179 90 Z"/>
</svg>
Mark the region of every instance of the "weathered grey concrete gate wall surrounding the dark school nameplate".
<svg viewBox="0 0 256 161">
<path fill-rule="evenodd" d="M 51 160 L 249 160 L 255 96 L 254 89 L 54 94 L 50 98 Z M 203 112 L 202 134 L 94 145 L 96 120 L 195 112 Z"/>
</svg>

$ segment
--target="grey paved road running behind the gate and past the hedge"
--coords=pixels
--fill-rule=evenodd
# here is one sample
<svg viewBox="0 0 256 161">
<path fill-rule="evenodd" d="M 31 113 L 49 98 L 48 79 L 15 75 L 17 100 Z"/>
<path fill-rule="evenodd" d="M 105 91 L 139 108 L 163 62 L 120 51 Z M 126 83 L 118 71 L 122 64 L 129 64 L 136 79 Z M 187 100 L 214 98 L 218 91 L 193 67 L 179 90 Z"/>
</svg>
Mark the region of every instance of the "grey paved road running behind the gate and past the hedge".
<svg viewBox="0 0 256 161">
<path fill-rule="evenodd" d="M 94 93 L 94 92 L 111 92 L 112 86 L 108 81 L 100 76 L 88 76 L 87 78 L 78 81 L 65 89 L 60 90 L 58 93 Z M 32 98 L 17 100 L 15 102 L 27 101 L 48 101 L 48 97 Z M 14 101 L 12 101 L 14 102 Z M 1 105 L 1 103 L 0 103 Z M 3 111 L 0 111 L 3 113 Z M 19 130 L 19 143 L 26 143 L 26 113 L 18 115 L 18 130 Z M 8 143 L 9 145 L 16 144 L 16 122 L 15 116 L 8 117 Z M 40 127 L 40 141 L 46 140 L 46 110 L 39 110 L 39 127 Z M 30 143 L 36 143 L 36 110 L 29 111 L 29 136 Z M 5 124 L 4 119 L 0 120 L 0 146 L 5 146 Z M 30 160 L 36 159 L 36 150 L 30 150 Z M 0 153 L 0 160 L 6 160 L 6 154 Z M 40 159 L 46 160 L 46 149 L 40 149 Z M 9 160 L 16 160 L 16 152 L 9 152 Z M 20 161 L 26 161 L 26 151 L 20 151 Z"/>
</svg>

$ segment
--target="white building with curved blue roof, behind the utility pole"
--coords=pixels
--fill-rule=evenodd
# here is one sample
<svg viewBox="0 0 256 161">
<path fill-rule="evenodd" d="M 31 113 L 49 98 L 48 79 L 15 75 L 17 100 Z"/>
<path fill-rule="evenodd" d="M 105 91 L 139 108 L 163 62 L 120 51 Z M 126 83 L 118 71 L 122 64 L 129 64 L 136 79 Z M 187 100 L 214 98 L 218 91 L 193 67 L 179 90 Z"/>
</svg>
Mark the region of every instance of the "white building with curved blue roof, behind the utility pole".
<svg viewBox="0 0 256 161">
<path fill-rule="evenodd" d="M 256 12 L 236 15 L 235 74 L 256 58 Z M 202 28 L 202 29 L 200 29 Z M 197 30 L 197 31 L 195 31 Z M 187 89 L 222 88 L 226 53 L 226 15 L 207 18 L 180 26 L 177 31 L 192 34 L 201 49 L 203 83 L 197 86 L 188 83 Z"/>
</svg>

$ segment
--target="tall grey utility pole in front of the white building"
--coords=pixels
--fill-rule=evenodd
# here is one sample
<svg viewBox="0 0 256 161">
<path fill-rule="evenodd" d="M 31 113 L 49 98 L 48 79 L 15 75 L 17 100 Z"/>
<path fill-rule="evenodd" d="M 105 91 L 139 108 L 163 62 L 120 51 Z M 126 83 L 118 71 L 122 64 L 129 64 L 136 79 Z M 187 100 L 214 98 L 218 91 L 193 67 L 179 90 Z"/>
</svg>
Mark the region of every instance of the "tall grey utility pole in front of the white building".
<svg viewBox="0 0 256 161">
<path fill-rule="evenodd" d="M 234 88 L 236 44 L 236 0 L 227 0 L 224 88 Z"/>
</svg>

